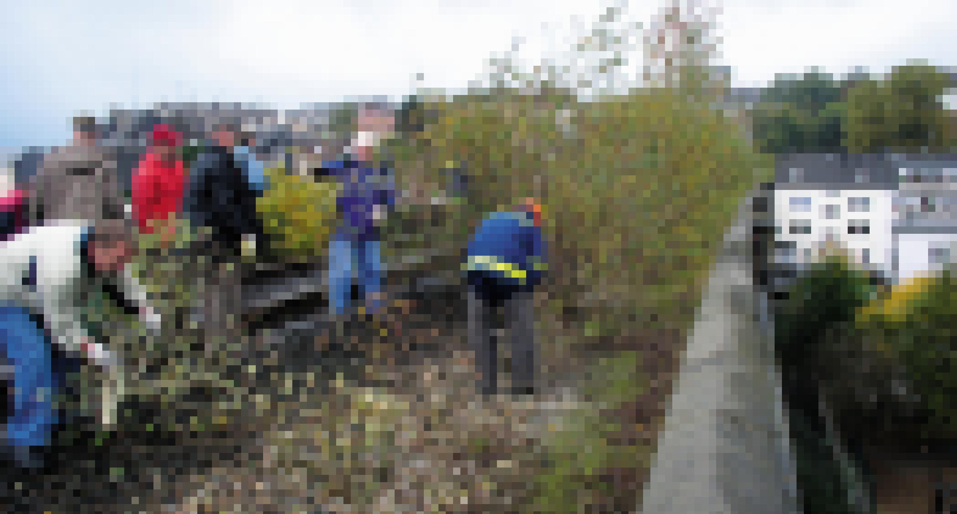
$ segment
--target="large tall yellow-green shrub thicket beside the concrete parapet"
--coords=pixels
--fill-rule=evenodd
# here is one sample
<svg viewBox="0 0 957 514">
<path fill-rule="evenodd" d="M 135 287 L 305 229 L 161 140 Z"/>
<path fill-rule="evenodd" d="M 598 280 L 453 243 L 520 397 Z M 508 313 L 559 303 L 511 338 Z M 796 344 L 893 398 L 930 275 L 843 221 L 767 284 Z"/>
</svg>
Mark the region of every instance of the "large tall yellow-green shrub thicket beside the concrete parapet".
<svg viewBox="0 0 957 514">
<path fill-rule="evenodd" d="M 470 226 L 518 196 L 543 200 L 551 312 L 586 335 L 687 324 L 740 201 L 768 176 L 741 127 L 675 93 L 579 103 L 503 95 L 427 101 L 435 123 L 395 149 L 397 179 L 429 190 L 465 163 Z M 558 116 L 570 111 L 570 129 Z M 764 173 L 764 174 L 763 174 Z"/>
</svg>

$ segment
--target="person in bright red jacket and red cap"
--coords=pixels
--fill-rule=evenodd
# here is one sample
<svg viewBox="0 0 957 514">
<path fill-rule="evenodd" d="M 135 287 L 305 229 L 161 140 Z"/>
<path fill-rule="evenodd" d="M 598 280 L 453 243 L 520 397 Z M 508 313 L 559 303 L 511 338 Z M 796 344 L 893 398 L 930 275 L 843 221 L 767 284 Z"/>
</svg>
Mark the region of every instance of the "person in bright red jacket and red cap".
<svg viewBox="0 0 957 514">
<path fill-rule="evenodd" d="M 131 201 L 141 234 L 153 234 L 162 225 L 171 230 L 170 217 L 183 209 L 183 161 L 177 150 L 181 136 L 166 124 L 153 127 L 149 150 L 133 175 Z M 168 234 L 167 234 L 168 235 Z"/>
</svg>

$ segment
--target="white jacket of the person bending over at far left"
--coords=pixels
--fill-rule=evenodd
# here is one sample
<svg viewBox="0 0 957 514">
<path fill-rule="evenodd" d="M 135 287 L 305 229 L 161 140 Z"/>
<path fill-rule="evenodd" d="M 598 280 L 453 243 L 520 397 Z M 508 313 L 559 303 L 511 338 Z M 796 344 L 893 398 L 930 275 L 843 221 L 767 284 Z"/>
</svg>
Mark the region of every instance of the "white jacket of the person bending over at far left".
<svg viewBox="0 0 957 514">
<path fill-rule="evenodd" d="M 101 364 L 113 356 L 89 338 L 80 324 L 90 277 L 80 256 L 82 236 L 88 224 L 62 221 L 37 226 L 16 238 L 0 242 L 0 303 L 28 306 L 41 314 L 53 342 L 69 352 L 86 353 Z M 145 290 L 130 273 L 123 273 L 120 288 L 128 302 L 138 307 L 145 322 L 158 323 L 148 305 Z M 153 326 L 151 326 L 152 328 Z M 88 346 L 81 347 L 83 343 Z"/>
</svg>

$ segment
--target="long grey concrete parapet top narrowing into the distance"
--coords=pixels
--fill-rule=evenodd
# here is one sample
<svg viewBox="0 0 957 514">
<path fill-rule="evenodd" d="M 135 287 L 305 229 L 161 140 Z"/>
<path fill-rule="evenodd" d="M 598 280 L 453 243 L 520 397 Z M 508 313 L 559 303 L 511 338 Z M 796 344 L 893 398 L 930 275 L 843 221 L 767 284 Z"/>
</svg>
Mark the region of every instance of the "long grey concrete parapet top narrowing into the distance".
<svg viewBox="0 0 957 514">
<path fill-rule="evenodd" d="M 750 201 L 725 236 L 682 356 L 645 514 L 796 513 L 796 477 L 767 297 L 754 284 Z"/>
</svg>

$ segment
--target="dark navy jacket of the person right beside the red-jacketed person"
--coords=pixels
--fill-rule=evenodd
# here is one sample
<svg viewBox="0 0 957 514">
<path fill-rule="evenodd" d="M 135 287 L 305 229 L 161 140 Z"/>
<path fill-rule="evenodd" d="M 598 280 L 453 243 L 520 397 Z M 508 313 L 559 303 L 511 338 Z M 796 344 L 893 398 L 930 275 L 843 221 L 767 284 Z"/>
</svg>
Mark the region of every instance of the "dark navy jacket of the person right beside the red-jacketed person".
<svg viewBox="0 0 957 514">
<path fill-rule="evenodd" d="M 238 248 L 243 235 L 262 235 L 256 192 L 226 148 L 199 156 L 189 173 L 184 210 L 193 227 L 210 227 L 213 238 Z"/>
</svg>

